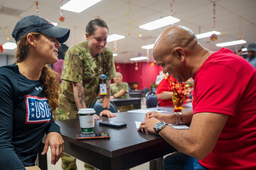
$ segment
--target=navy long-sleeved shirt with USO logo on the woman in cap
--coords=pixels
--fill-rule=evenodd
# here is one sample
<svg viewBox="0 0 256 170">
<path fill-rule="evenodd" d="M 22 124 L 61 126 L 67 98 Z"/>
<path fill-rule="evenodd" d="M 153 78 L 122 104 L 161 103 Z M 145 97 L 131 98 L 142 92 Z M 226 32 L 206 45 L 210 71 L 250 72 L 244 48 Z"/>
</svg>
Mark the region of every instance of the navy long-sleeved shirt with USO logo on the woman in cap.
<svg viewBox="0 0 256 170">
<path fill-rule="evenodd" d="M 45 133 L 55 123 L 44 85 L 20 74 L 18 65 L 0 67 L 0 168 L 33 166 Z"/>
</svg>

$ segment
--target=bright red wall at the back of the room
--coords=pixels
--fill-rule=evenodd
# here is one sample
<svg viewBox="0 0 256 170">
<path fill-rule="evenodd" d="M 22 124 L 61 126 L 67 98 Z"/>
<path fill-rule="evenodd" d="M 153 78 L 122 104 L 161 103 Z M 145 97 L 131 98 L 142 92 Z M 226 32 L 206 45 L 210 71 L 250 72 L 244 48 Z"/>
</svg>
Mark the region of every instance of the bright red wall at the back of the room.
<svg viewBox="0 0 256 170">
<path fill-rule="evenodd" d="M 153 66 L 151 63 L 138 63 L 138 70 L 135 70 L 135 63 L 115 63 L 115 66 L 119 66 L 118 69 L 116 68 L 116 71 L 123 75 L 123 82 L 138 82 L 138 89 L 144 89 L 144 87 L 150 89 L 150 84 L 153 84 L 153 81 L 156 81 L 156 76 L 159 75 L 159 72 L 163 71 L 163 68 L 157 66 L 156 63 L 154 63 Z"/>
</svg>

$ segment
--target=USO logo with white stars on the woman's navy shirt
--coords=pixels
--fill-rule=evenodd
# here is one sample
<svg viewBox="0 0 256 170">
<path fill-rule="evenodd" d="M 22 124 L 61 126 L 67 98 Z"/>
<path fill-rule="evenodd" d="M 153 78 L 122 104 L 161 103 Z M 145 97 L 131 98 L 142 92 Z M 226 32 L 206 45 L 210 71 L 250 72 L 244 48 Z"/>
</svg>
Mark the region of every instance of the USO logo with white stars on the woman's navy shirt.
<svg viewBox="0 0 256 170">
<path fill-rule="evenodd" d="M 26 121 L 25 123 L 43 123 L 51 119 L 51 107 L 46 97 L 25 95 Z"/>
</svg>

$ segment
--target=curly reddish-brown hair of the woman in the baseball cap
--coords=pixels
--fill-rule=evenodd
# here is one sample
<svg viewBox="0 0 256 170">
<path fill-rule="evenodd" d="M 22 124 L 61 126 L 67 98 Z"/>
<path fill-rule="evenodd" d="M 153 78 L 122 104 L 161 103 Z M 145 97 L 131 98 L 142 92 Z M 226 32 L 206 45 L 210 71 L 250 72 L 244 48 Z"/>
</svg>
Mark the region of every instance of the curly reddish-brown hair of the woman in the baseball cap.
<svg viewBox="0 0 256 170">
<path fill-rule="evenodd" d="M 17 49 L 15 52 L 14 63 L 22 62 L 28 56 L 29 43 L 27 41 L 27 33 L 17 42 Z M 41 33 L 33 32 L 36 38 L 38 38 Z M 44 91 L 48 98 L 48 103 L 51 106 L 52 112 L 59 106 L 59 93 L 61 92 L 58 73 L 51 70 L 48 65 L 45 65 L 42 69 L 40 81 L 44 84 Z"/>
</svg>

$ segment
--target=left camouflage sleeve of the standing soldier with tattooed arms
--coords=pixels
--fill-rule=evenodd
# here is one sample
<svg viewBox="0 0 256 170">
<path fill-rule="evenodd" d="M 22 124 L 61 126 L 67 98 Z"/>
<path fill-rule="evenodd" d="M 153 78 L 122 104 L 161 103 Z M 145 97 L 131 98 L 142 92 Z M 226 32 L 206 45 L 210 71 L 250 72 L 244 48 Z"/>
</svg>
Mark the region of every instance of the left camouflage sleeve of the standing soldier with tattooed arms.
<svg viewBox="0 0 256 170">
<path fill-rule="evenodd" d="M 83 83 L 84 75 L 84 58 L 86 55 L 79 45 L 73 46 L 65 55 L 61 79 Z"/>
</svg>

